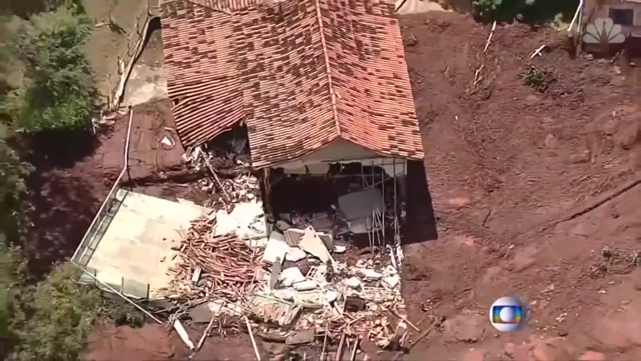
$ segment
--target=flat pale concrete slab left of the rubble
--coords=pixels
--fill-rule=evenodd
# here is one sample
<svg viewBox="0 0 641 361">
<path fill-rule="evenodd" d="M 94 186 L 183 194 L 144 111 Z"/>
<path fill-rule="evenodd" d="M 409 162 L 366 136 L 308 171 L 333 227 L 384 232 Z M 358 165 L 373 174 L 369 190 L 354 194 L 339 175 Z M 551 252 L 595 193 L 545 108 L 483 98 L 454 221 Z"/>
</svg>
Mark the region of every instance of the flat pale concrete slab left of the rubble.
<svg viewBox="0 0 641 361">
<path fill-rule="evenodd" d="M 171 247 L 179 245 L 190 222 L 209 209 L 125 189 L 117 197 L 122 197 L 122 205 L 88 267 L 96 269 L 97 279 L 104 283 L 121 285 L 124 279 L 125 293 L 129 288 L 140 290 L 140 286 L 127 285 L 149 285 L 149 297 L 161 298 L 158 291 L 169 285 L 167 271 L 178 260 L 171 259 L 176 252 Z"/>
</svg>

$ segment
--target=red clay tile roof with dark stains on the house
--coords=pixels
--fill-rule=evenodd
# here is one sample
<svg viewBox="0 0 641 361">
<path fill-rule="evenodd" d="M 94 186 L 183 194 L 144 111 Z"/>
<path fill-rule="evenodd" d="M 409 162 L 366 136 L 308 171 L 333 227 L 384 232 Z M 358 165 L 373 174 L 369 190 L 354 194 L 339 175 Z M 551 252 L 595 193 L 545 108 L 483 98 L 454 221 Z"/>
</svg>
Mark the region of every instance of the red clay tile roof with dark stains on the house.
<svg viewBox="0 0 641 361">
<path fill-rule="evenodd" d="M 190 1 L 171 1 L 162 13 L 169 96 L 178 102 L 184 146 L 244 120 L 256 168 L 300 159 L 338 137 L 422 159 L 393 4 L 237 2 L 229 15 L 212 10 L 213 1 Z"/>
</svg>

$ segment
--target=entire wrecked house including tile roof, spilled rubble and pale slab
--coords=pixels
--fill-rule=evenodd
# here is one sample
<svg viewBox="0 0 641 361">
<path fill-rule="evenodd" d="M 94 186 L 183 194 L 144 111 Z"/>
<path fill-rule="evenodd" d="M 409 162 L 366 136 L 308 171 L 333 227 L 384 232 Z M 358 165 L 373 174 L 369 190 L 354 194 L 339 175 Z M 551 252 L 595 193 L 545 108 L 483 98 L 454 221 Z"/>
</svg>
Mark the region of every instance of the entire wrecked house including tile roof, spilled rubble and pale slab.
<svg viewBox="0 0 641 361">
<path fill-rule="evenodd" d="M 162 305 L 147 316 L 194 351 L 220 315 L 221 330 L 243 317 L 252 340 L 253 327 L 273 339 L 276 326 L 286 344 L 324 330 L 323 347 L 341 339 L 340 355 L 345 340 L 352 358 L 363 337 L 402 346 L 406 325 L 419 328 L 400 294 L 401 229 L 427 189 L 394 4 L 171 0 L 160 12 L 175 145 L 208 170 L 198 182 L 211 198 L 124 189 L 128 134 L 124 169 L 72 257 L 85 281 L 145 312 L 129 297 Z M 408 198 L 412 169 L 424 193 Z M 351 247 L 365 240 L 367 252 Z M 198 344 L 185 318 L 209 322 Z"/>
</svg>

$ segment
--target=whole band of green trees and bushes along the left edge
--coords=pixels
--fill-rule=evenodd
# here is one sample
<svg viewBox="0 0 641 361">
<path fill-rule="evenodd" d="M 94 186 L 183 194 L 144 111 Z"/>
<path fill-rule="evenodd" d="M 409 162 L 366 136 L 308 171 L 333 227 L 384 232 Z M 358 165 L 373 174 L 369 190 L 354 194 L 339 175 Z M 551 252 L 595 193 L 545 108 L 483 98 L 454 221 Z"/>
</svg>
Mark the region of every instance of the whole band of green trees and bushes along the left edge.
<svg viewBox="0 0 641 361">
<path fill-rule="evenodd" d="M 97 95 L 81 49 L 93 26 L 76 5 L 79 0 L 34 1 L 40 7 L 10 9 L 28 21 L 0 16 L 0 359 L 73 361 L 81 358 L 98 319 L 142 326 L 144 315 L 103 297 L 95 286 L 79 284 L 80 271 L 70 263 L 36 279 L 16 246 L 31 226 L 26 179 L 33 167 L 6 139 L 26 140 L 15 137 L 16 130 L 88 127 Z"/>
</svg>

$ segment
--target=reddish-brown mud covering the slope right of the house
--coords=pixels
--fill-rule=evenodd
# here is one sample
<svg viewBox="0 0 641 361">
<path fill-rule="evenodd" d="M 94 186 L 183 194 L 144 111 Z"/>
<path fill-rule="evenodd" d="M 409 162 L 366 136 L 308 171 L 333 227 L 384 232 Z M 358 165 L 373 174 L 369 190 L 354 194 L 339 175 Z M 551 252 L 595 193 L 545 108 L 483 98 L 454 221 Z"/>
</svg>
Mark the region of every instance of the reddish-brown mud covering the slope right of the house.
<svg viewBox="0 0 641 361">
<path fill-rule="evenodd" d="M 408 359 L 637 355 L 638 340 L 617 348 L 592 330 L 620 301 L 631 300 L 622 312 L 641 306 L 641 292 L 604 299 L 608 287 L 634 288 L 638 270 L 617 267 L 638 245 L 638 186 L 554 225 L 639 179 L 634 76 L 612 62 L 570 58 L 565 31 L 497 26 L 487 52 L 490 26 L 456 13 L 404 16 L 401 31 L 439 233 L 407 246 L 404 294 L 417 322 L 451 319 Z M 542 44 L 542 56 L 529 60 Z M 524 84 L 532 65 L 553 74 L 547 91 Z M 595 274 L 605 245 L 619 250 L 617 267 Z M 487 310 L 504 294 L 540 310 L 524 333 L 495 338 Z"/>
</svg>

